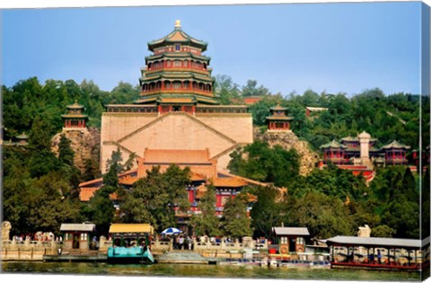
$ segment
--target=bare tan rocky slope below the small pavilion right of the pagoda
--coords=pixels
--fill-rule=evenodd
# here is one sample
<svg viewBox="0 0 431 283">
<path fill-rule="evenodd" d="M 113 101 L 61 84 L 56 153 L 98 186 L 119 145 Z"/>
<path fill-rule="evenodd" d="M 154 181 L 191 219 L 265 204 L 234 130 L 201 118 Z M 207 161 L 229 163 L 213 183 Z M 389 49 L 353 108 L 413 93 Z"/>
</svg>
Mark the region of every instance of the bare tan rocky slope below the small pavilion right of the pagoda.
<svg viewBox="0 0 431 283">
<path fill-rule="evenodd" d="M 319 156 L 313 152 L 308 145 L 308 142 L 300 140 L 292 131 L 277 132 L 266 131 L 260 132 L 259 128 L 253 130 L 254 140 L 261 140 L 268 142 L 269 146 L 282 146 L 286 150 L 294 148 L 301 156 L 299 173 L 307 175 L 312 172 L 319 161 Z"/>
</svg>

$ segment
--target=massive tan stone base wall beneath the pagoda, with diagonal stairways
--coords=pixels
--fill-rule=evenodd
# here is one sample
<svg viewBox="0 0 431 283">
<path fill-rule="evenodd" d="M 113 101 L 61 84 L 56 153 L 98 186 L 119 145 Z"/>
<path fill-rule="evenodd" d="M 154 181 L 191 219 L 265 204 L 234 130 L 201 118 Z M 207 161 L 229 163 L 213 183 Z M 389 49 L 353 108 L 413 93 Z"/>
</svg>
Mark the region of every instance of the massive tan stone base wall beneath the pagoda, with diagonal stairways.
<svg viewBox="0 0 431 283">
<path fill-rule="evenodd" d="M 131 153 L 142 157 L 145 148 L 209 149 L 217 157 L 217 170 L 227 171 L 229 154 L 236 146 L 253 141 L 249 113 L 211 113 L 191 116 L 170 112 L 162 116 L 146 113 L 103 113 L 101 116 L 101 172 L 119 148 L 123 161 Z"/>
</svg>

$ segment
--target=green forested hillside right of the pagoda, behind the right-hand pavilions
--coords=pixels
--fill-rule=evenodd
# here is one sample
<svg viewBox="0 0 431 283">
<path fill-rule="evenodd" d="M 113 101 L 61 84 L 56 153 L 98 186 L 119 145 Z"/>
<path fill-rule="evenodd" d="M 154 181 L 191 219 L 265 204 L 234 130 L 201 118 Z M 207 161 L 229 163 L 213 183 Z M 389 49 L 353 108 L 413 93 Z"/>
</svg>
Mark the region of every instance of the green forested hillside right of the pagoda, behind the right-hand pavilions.
<svg viewBox="0 0 431 283">
<path fill-rule="evenodd" d="M 314 148 L 332 139 L 352 136 L 366 131 L 378 139 L 378 146 L 397 139 L 400 143 L 418 148 L 419 113 L 422 111 L 422 127 L 429 128 L 429 98 L 410 93 L 383 93 L 379 89 L 365 90 L 347 96 L 346 93 L 270 93 L 264 86 L 250 80 L 238 86 L 228 76 L 218 76 L 216 93 L 221 102 L 242 103 L 247 96 L 262 96 L 251 105 L 253 122 L 265 125 L 269 108 L 279 103 L 286 107 L 288 116 L 294 117 L 292 129 L 296 136 L 309 141 Z M 305 107 L 324 107 L 328 111 L 305 116 Z M 429 140 L 424 131 L 423 140 Z"/>
</svg>

